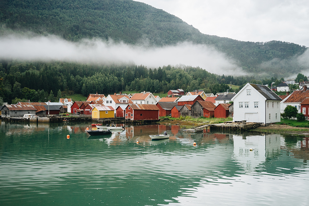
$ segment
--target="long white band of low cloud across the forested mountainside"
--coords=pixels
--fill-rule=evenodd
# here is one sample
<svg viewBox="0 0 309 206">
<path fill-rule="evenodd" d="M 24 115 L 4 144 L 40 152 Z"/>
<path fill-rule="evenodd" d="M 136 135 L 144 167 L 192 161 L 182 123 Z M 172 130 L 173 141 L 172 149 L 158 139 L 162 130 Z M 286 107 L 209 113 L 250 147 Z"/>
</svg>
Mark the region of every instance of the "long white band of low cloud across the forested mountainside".
<svg viewBox="0 0 309 206">
<path fill-rule="evenodd" d="M 242 69 L 224 53 L 213 47 L 189 42 L 173 46 L 134 46 L 112 40 L 84 39 L 79 42 L 58 36 L 0 37 L 0 59 L 21 61 L 65 61 L 91 64 L 132 63 L 158 68 L 163 65 L 199 66 L 208 72 L 225 75 L 245 75 Z"/>
</svg>

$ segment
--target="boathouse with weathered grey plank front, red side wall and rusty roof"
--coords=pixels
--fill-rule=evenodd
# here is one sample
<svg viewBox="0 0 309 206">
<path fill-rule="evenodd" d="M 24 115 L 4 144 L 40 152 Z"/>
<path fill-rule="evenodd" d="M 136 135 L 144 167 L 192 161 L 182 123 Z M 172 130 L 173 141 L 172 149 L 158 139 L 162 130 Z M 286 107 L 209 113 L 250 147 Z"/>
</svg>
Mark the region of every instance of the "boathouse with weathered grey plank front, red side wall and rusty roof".
<svg viewBox="0 0 309 206">
<path fill-rule="evenodd" d="M 201 116 L 209 118 L 214 117 L 214 103 L 209 101 L 196 101 L 191 107 L 191 116 L 199 118 Z"/>
</svg>

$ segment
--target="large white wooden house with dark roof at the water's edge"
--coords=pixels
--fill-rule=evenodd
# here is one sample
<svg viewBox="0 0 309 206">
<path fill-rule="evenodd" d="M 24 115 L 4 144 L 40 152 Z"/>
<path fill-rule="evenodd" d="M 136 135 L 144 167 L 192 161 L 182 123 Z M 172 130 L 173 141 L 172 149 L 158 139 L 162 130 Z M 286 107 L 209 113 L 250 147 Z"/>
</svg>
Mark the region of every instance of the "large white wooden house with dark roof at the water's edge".
<svg viewBox="0 0 309 206">
<path fill-rule="evenodd" d="M 280 122 L 280 101 L 267 86 L 247 83 L 233 98 L 233 121 Z"/>
</svg>

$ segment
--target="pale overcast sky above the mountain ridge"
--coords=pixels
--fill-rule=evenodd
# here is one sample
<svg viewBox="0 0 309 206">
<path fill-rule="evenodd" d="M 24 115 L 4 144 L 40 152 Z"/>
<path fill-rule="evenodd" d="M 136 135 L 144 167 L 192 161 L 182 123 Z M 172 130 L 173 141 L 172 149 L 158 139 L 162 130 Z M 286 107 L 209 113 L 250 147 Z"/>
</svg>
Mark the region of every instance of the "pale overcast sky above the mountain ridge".
<svg viewBox="0 0 309 206">
<path fill-rule="evenodd" d="M 306 0 L 138 0 L 175 15 L 203 34 L 241 41 L 280 40 L 309 47 Z"/>
</svg>

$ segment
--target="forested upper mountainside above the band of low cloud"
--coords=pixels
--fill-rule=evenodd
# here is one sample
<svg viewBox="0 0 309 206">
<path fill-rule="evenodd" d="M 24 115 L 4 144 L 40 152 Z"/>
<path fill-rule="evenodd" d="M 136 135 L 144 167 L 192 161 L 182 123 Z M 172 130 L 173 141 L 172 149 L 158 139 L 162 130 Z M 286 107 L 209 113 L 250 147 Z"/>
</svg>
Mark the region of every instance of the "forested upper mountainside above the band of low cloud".
<svg viewBox="0 0 309 206">
<path fill-rule="evenodd" d="M 150 5 L 131 0 L 1 1 L 0 23 L 19 32 L 55 34 L 70 41 L 99 37 L 128 44 L 163 46 L 190 41 L 213 45 L 235 59 L 244 70 L 288 76 L 304 69 L 291 57 L 307 49 L 298 44 L 244 42 L 202 34 L 181 19 Z M 261 66 L 272 62 L 271 69 Z M 285 60 L 285 64 L 281 64 Z M 265 68 L 266 67 L 266 68 Z"/>
</svg>

